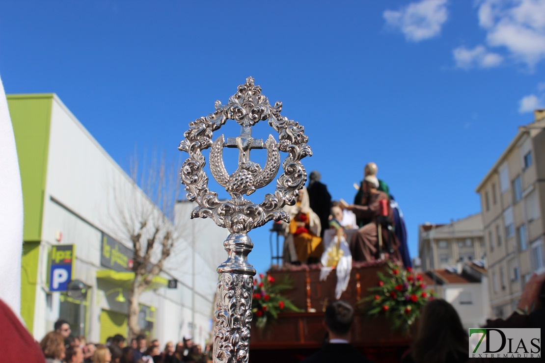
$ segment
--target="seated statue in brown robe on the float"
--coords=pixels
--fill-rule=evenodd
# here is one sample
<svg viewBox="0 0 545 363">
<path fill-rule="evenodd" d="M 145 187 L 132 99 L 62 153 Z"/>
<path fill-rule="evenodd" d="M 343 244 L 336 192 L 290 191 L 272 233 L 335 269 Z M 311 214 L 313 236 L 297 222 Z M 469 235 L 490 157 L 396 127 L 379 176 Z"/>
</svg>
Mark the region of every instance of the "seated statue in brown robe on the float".
<svg viewBox="0 0 545 363">
<path fill-rule="evenodd" d="M 358 232 L 354 233 L 350 241 L 350 253 L 353 261 L 373 261 L 380 259 L 378 225 L 377 220 L 380 218 L 380 201 L 386 200 L 387 218 L 393 221 L 393 212 L 390 207 L 388 195 L 377 190 L 378 180 L 375 176 L 365 177 L 362 183 L 364 188 L 364 196 L 362 197 L 361 205 L 349 205 L 348 210 L 353 211 L 357 218 L 369 219 L 371 222 L 361 227 Z M 382 251 L 386 257 L 393 260 L 400 260 L 399 242 L 395 233 L 390 233 L 386 225 L 383 225 L 382 230 Z M 387 253 L 387 241 L 390 241 L 393 249 L 393 254 Z"/>
</svg>

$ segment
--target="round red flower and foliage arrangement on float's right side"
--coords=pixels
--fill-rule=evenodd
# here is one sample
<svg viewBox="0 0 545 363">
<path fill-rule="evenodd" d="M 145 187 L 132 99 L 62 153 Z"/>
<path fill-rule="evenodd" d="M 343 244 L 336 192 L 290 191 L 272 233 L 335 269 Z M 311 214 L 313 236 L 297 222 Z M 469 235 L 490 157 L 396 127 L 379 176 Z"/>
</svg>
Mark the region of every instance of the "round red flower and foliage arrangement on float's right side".
<svg viewBox="0 0 545 363">
<path fill-rule="evenodd" d="M 409 268 L 388 262 L 386 273 L 378 272 L 378 286 L 370 287 L 370 296 L 360 300 L 366 303 L 367 314 L 384 314 L 392 321 L 392 329 L 408 331 L 420 316 L 422 306 L 433 299 L 435 293 L 426 290 L 422 276 Z"/>
</svg>

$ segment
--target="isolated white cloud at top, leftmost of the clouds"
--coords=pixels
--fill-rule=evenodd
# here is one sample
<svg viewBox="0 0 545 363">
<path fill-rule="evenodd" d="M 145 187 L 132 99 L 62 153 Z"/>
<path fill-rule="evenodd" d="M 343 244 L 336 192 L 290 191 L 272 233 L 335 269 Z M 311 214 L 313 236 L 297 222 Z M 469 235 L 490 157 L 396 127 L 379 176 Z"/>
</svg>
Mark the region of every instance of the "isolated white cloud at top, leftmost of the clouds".
<svg viewBox="0 0 545 363">
<path fill-rule="evenodd" d="M 422 0 L 410 3 L 398 11 L 384 11 L 387 26 L 401 30 L 405 39 L 421 41 L 438 36 L 446 22 L 447 0 Z"/>
</svg>

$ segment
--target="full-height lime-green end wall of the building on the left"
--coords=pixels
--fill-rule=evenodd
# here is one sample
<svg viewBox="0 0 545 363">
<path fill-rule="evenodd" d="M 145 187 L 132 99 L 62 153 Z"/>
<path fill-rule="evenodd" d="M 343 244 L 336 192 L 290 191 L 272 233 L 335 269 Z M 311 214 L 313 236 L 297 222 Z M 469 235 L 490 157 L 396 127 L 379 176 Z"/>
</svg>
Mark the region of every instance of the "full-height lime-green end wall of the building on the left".
<svg viewBox="0 0 545 363">
<path fill-rule="evenodd" d="M 21 317 L 33 331 L 53 94 L 8 95 L 23 190 Z"/>
</svg>

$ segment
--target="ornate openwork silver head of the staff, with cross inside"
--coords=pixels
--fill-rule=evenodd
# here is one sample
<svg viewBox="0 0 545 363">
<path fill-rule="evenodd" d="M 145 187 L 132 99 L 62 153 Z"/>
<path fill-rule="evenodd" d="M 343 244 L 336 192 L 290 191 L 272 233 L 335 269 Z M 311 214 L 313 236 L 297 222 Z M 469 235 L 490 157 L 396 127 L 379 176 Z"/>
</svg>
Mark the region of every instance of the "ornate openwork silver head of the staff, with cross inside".
<svg viewBox="0 0 545 363">
<path fill-rule="evenodd" d="M 185 184 L 187 199 L 197 202 L 191 218 L 212 218 L 220 227 L 231 233 L 246 233 L 269 220 L 283 220 L 289 223 L 289 216 L 282 210 L 286 204 L 295 203 L 298 190 L 304 186 L 306 171 L 301 159 L 311 156 L 304 127 L 298 122 L 288 120 L 280 114 L 282 103 L 274 106 L 261 93 L 261 87 L 254 84 L 254 79 L 246 78 L 246 83 L 239 85 L 236 94 L 223 106 L 216 101 L 215 112 L 201 117 L 189 124 L 178 149 L 189 153 L 181 167 L 181 182 Z M 240 136 L 228 138 L 223 135 L 213 142 L 213 132 L 235 120 L 241 126 Z M 258 121 L 268 124 L 278 133 L 278 141 L 272 135 L 263 142 L 251 137 L 251 126 Z M 231 175 L 223 164 L 223 147 L 237 147 L 239 163 Z M 204 172 L 205 158 L 202 150 L 210 149 L 210 171 L 214 179 L 231 195 L 232 199 L 220 201 L 216 192 L 208 189 L 208 176 Z M 250 150 L 267 149 L 267 161 L 263 168 L 250 160 Z M 287 156 L 282 162 L 283 173 L 276 181 L 274 194 L 266 194 L 261 204 L 255 204 L 244 198 L 269 184 L 280 168 L 280 151 Z"/>
</svg>

